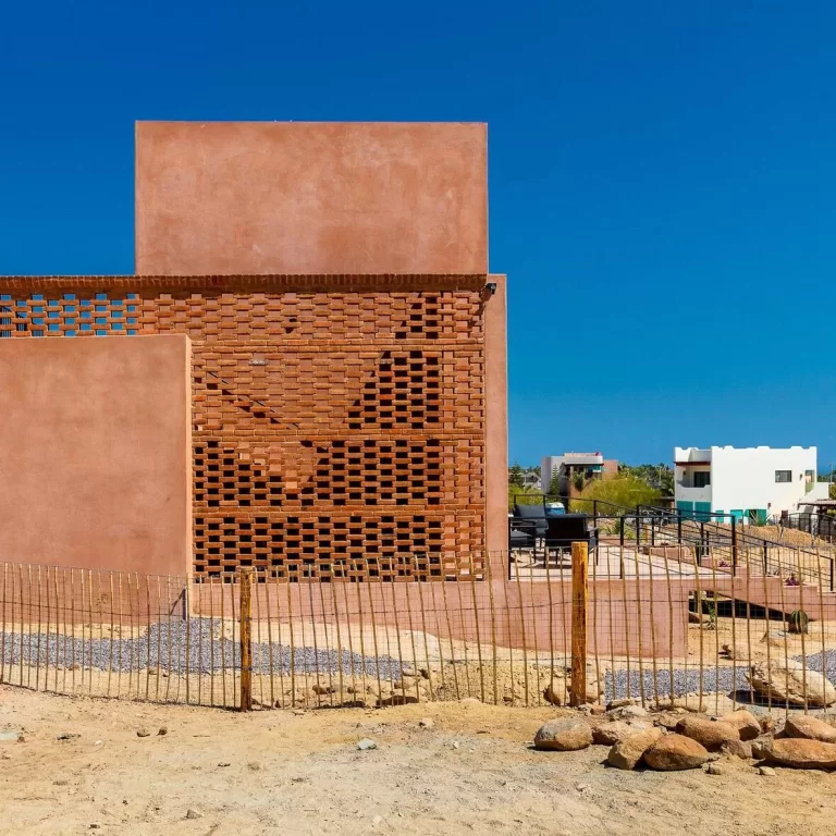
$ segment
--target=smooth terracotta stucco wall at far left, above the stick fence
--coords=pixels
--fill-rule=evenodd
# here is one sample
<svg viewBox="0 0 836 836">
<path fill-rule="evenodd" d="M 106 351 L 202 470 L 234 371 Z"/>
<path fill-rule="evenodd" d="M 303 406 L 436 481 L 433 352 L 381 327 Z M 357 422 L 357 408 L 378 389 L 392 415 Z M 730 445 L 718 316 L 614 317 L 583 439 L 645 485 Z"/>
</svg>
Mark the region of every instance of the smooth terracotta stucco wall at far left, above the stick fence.
<svg viewBox="0 0 836 836">
<path fill-rule="evenodd" d="M 0 340 L 0 560 L 184 576 L 182 335 Z"/>
</svg>

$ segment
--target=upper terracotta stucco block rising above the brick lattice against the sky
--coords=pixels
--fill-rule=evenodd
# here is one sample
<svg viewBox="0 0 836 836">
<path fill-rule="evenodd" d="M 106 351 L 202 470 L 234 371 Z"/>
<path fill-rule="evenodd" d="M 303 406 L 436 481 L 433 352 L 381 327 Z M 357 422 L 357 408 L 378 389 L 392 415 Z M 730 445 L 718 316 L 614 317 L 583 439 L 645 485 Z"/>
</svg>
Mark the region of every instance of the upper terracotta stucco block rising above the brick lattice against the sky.
<svg viewBox="0 0 836 836">
<path fill-rule="evenodd" d="M 139 122 L 136 272 L 488 272 L 487 126 Z"/>
</svg>

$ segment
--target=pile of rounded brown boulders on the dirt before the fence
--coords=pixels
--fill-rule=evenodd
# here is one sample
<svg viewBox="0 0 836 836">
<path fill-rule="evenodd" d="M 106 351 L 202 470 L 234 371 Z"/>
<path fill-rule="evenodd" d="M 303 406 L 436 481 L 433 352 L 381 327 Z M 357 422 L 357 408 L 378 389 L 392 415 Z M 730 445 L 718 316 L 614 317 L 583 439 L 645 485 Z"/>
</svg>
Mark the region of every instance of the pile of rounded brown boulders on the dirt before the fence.
<svg viewBox="0 0 836 836">
<path fill-rule="evenodd" d="M 561 717 L 542 726 L 534 748 L 576 751 L 589 746 L 610 748 L 606 763 L 618 770 L 647 766 L 672 772 L 713 763 L 721 757 L 739 758 L 753 766 L 836 770 L 836 727 L 812 715 L 790 716 L 783 728 L 771 715 L 760 720 L 739 709 L 720 717 L 683 709 L 650 713 L 628 700 L 607 706 L 599 717 Z"/>
</svg>

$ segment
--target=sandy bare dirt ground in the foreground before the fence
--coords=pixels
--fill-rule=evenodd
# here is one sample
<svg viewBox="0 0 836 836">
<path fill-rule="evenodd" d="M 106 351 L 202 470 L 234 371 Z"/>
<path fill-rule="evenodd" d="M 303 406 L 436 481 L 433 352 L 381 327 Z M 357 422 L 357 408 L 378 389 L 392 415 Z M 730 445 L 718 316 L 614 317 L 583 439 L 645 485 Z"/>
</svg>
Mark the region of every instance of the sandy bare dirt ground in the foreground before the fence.
<svg viewBox="0 0 836 836">
<path fill-rule="evenodd" d="M 836 775 L 762 777 L 725 759 L 720 776 L 625 773 L 602 765 L 602 747 L 532 751 L 558 713 L 435 703 L 236 714 L 4 687 L 0 730 L 24 740 L 0 742 L 0 833 L 734 836 L 833 825 Z M 143 727 L 150 736 L 137 736 Z M 367 737 L 378 748 L 359 751 Z"/>
</svg>

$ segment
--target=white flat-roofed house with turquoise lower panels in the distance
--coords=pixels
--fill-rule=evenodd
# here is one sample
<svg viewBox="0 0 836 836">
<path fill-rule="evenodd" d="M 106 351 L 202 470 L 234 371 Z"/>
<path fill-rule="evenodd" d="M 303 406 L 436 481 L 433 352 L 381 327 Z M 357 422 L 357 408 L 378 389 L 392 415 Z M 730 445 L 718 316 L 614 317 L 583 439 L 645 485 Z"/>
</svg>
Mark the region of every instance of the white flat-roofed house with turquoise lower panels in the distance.
<svg viewBox="0 0 836 836">
<path fill-rule="evenodd" d="M 827 499 L 815 456 L 815 447 L 674 447 L 676 507 L 726 521 L 791 514 L 804 500 Z"/>
</svg>

